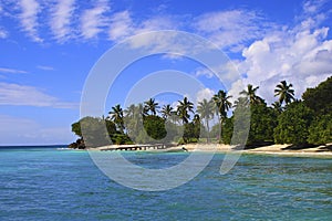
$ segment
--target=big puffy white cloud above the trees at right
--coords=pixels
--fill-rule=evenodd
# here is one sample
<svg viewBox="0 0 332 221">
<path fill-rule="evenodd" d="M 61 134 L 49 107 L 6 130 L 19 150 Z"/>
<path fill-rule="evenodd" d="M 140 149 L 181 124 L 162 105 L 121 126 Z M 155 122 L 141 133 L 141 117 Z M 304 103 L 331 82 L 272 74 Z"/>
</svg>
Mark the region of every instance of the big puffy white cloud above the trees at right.
<svg viewBox="0 0 332 221">
<path fill-rule="evenodd" d="M 292 83 L 300 98 L 305 88 L 332 75 L 329 29 L 314 28 L 315 23 L 303 25 L 305 21 L 311 18 L 294 28 L 269 33 L 242 52 L 245 61 L 239 69 L 248 76 L 245 82 L 260 86 L 258 94 L 268 103 L 276 101 L 273 91 L 280 81 Z"/>
</svg>

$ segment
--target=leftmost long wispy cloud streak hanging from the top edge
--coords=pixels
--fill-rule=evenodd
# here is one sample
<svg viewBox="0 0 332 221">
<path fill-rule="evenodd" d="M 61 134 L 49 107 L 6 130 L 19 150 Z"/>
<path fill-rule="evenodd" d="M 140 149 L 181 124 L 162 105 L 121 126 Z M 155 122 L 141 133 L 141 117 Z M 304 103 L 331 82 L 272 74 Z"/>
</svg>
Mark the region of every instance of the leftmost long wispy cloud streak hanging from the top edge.
<svg viewBox="0 0 332 221">
<path fill-rule="evenodd" d="M 19 15 L 23 30 L 28 32 L 29 36 L 35 42 L 42 42 L 38 36 L 38 13 L 40 12 L 40 4 L 35 0 L 21 0 L 19 2 L 21 14 Z"/>
</svg>

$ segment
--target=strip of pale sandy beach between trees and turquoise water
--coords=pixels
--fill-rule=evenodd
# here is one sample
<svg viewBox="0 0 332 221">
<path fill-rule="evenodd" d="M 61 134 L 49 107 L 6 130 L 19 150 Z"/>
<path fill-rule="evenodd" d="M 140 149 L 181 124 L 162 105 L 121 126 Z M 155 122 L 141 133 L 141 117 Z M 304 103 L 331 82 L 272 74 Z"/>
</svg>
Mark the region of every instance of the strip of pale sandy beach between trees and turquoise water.
<svg viewBox="0 0 332 221">
<path fill-rule="evenodd" d="M 138 145 L 110 145 L 97 148 L 86 149 L 89 151 L 105 151 L 105 150 L 116 150 L 120 147 L 135 147 Z M 144 146 L 144 145 L 139 145 Z M 146 145 L 148 146 L 148 145 Z M 302 148 L 302 149 L 288 149 L 291 145 L 270 145 L 262 146 L 251 149 L 234 149 L 235 146 L 230 145 L 220 145 L 220 144 L 186 144 L 174 147 L 168 147 L 165 149 L 147 149 L 147 150 L 136 150 L 136 151 L 153 151 L 153 152 L 173 152 L 173 151 L 185 151 L 188 152 L 197 151 L 197 152 L 222 152 L 222 154 L 255 154 L 255 155 L 274 155 L 274 156 L 289 156 L 289 157 L 320 157 L 320 158 L 332 158 L 332 150 L 328 149 L 326 146 L 331 146 L 331 144 L 326 146 L 318 146 L 311 148 Z M 185 149 L 185 150 L 184 150 Z"/>
</svg>

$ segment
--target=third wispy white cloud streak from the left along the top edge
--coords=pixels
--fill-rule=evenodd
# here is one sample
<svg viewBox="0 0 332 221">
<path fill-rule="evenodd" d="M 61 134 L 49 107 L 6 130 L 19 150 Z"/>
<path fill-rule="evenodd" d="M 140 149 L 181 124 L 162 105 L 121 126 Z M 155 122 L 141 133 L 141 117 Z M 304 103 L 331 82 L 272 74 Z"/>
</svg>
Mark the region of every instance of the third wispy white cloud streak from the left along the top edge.
<svg viewBox="0 0 332 221">
<path fill-rule="evenodd" d="M 81 21 L 82 35 L 84 39 L 95 38 L 106 25 L 107 19 L 104 13 L 110 10 L 107 1 L 97 1 L 93 9 L 84 11 Z"/>
</svg>

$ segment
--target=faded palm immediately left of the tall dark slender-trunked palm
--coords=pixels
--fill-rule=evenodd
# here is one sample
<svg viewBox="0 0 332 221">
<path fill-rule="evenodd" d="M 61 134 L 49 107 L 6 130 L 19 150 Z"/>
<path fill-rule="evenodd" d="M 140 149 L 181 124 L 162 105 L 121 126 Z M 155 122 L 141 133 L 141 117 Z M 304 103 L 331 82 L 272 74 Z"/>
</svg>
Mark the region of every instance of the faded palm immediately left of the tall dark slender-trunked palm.
<svg viewBox="0 0 332 221">
<path fill-rule="evenodd" d="M 214 118 L 214 101 L 207 101 L 204 98 L 201 102 L 198 103 L 197 113 L 200 115 L 201 118 L 205 119 L 206 128 L 207 128 L 207 143 L 210 141 L 210 128 L 209 128 L 209 120 Z"/>
</svg>

